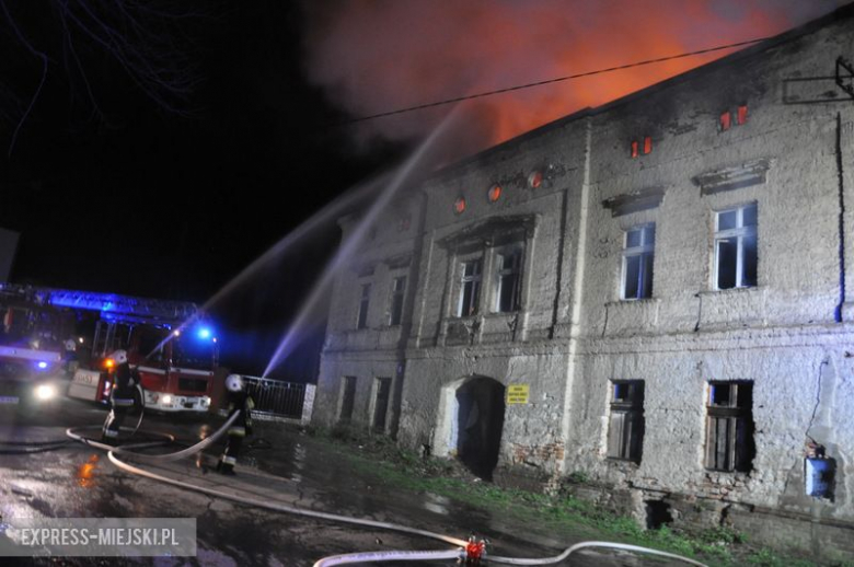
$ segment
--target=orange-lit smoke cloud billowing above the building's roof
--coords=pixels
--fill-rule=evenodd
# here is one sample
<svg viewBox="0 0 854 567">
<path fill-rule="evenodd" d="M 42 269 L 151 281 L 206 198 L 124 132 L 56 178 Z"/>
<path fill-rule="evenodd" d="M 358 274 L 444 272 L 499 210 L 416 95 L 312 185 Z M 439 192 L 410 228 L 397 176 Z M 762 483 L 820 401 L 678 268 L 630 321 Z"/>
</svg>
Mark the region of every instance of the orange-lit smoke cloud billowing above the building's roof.
<svg viewBox="0 0 854 567">
<path fill-rule="evenodd" d="M 843 0 L 305 0 L 305 70 L 354 118 L 775 35 Z M 717 51 L 464 103 L 458 157 L 727 55 Z M 424 138 L 450 106 L 349 126 Z"/>
</svg>

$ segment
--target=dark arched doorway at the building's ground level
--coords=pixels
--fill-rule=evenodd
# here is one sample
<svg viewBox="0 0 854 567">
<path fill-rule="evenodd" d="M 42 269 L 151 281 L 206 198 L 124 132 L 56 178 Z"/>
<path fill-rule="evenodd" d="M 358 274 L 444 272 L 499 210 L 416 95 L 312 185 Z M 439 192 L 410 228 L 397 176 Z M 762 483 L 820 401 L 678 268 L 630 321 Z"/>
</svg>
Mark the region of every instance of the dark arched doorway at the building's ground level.
<svg viewBox="0 0 854 567">
<path fill-rule="evenodd" d="M 504 429 L 504 391 L 491 378 L 473 378 L 455 392 L 457 455 L 477 476 L 492 479 Z"/>
</svg>

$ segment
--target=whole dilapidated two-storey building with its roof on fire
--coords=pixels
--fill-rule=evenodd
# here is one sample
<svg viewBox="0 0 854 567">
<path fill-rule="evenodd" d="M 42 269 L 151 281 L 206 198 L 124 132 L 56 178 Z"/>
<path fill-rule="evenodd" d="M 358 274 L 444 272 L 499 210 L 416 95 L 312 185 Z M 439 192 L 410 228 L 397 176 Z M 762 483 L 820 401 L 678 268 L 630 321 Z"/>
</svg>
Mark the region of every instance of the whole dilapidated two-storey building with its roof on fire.
<svg viewBox="0 0 854 567">
<path fill-rule="evenodd" d="M 852 58 L 845 8 L 436 172 L 338 277 L 315 420 L 854 553 Z"/>
</svg>

